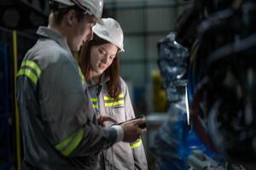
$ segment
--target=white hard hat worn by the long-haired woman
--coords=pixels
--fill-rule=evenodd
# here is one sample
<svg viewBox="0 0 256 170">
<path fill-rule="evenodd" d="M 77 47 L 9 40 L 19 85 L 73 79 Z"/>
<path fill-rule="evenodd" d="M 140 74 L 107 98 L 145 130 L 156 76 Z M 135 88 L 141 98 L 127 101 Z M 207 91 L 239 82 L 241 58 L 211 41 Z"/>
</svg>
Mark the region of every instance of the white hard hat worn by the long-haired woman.
<svg viewBox="0 0 256 170">
<path fill-rule="evenodd" d="M 92 31 L 102 39 L 113 43 L 121 51 L 125 51 L 124 49 L 124 33 L 116 20 L 112 18 L 102 18 L 104 25 L 96 24 L 96 26 L 92 27 Z"/>
</svg>

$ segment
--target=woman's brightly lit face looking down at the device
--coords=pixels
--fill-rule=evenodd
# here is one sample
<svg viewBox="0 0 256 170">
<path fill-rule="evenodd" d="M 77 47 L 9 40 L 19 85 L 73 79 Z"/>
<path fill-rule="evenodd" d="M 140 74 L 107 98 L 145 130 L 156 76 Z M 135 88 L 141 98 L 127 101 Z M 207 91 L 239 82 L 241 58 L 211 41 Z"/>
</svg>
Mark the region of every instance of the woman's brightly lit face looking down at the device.
<svg viewBox="0 0 256 170">
<path fill-rule="evenodd" d="M 90 65 L 93 76 L 100 76 L 106 71 L 118 53 L 118 48 L 112 43 L 92 46 L 90 49 Z"/>
</svg>

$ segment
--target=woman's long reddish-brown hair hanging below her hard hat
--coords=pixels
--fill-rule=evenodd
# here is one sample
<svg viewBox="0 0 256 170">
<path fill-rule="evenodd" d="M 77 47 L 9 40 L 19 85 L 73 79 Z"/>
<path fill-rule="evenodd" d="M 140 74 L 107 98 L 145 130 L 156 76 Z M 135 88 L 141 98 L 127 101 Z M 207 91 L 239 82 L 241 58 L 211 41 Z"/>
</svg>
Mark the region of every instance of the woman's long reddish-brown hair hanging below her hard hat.
<svg viewBox="0 0 256 170">
<path fill-rule="evenodd" d="M 79 66 L 84 74 L 84 78 L 86 81 L 90 80 L 90 50 L 92 46 L 99 46 L 108 42 L 100 37 L 97 37 L 95 34 L 93 36 L 93 40 L 84 44 L 81 53 L 79 54 Z M 110 80 L 107 83 L 108 86 L 108 94 L 110 97 L 116 99 L 118 95 L 121 93 L 120 86 L 120 71 L 119 71 L 119 54 L 117 53 L 111 65 L 108 66 L 108 69 L 104 71 Z"/>
</svg>

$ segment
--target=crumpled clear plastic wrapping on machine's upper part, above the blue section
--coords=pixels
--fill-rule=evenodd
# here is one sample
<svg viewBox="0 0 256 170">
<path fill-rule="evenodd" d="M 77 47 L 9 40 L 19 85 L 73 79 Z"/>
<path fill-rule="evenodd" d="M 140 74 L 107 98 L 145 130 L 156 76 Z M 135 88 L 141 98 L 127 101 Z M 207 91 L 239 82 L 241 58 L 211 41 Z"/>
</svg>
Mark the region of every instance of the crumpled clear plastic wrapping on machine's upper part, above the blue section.
<svg viewBox="0 0 256 170">
<path fill-rule="evenodd" d="M 186 80 L 187 60 L 189 52 L 175 41 L 175 33 L 170 33 L 158 43 L 161 77 L 164 80 L 164 88 L 170 102 L 180 100 L 177 87 L 184 86 Z"/>
</svg>

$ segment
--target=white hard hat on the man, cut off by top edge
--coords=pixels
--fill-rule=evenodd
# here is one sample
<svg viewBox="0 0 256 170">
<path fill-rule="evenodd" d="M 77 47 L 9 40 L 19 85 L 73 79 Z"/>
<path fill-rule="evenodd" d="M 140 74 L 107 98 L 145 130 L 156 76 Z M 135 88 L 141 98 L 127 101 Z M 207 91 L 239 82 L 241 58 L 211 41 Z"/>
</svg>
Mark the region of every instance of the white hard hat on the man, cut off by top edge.
<svg viewBox="0 0 256 170">
<path fill-rule="evenodd" d="M 102 22 L 102 10 L 103 10 L 103 0 L 53 0 L 58 3 L 65 4 L 67 6 L 78 5 L 88 14 L 93 14 L 97 22 L 103 25 Z M 89 11 L 88 11 L 89 10 Z"/>
</svg>

